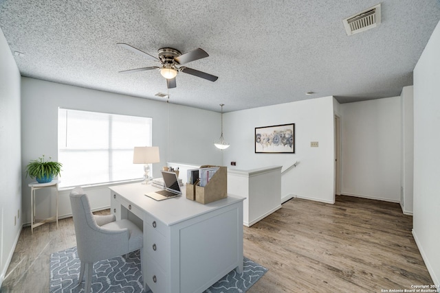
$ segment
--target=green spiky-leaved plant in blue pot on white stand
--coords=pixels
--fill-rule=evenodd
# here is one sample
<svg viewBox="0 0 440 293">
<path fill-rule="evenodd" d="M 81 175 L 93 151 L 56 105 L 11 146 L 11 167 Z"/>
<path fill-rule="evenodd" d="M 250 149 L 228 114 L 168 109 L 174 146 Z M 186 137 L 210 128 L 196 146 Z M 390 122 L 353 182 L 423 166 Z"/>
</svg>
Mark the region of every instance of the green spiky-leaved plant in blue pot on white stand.
<svg viewBox="0 0 440 293">
<path fill-rule="evenodd" d="M 54 176 L 60 175 L 61 167 L 63 164 L 50 161 L 52 157 L 49 157 L 48 161 L 43 157 L 38 160 L 32 160 L 26 166 L 26 177 L 35 178 L 38 183 L 49 183 Z"/>
</svg>

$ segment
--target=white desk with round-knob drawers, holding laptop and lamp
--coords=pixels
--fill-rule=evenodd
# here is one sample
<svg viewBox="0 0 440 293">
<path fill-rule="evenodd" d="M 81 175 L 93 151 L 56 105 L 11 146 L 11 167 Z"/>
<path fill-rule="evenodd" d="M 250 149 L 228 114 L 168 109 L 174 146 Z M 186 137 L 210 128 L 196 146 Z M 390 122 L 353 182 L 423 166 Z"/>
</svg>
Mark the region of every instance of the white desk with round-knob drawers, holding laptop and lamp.
<svg viewBox="0 0 440 293">
<path fill-rule="evenodd" d="M 116 218 L 143 228 L 146 291 L 203 292 L 231 270 L 243 272 L 244 198 L 199 204 L 184 194 L 157 202 L 144 196 L 155 190 L 151 185 L 110 189 Z"/>
</svg>

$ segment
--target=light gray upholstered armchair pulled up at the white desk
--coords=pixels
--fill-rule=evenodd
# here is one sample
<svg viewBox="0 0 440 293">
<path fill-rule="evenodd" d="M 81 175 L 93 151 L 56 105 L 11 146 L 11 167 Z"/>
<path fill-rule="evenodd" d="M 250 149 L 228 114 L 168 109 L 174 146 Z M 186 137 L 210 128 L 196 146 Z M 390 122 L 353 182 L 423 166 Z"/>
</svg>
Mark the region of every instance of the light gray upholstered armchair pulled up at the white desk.
<svg viewBox="0 0 440 293">
<path fill-rule="evenodd" d="M 129 220 L 115 221 L 115 215 L 94 215 L 89 199 L 81 187 L 70 193 L 72 214 L 76 233 L 76 246 L 81 261 L 79 281 L 85 270 L 85 293 L 91 290 L 94 262 L 110 259 L 140 249 L 141 270 L 143 265 L 143 234 Z"/>
</svg>

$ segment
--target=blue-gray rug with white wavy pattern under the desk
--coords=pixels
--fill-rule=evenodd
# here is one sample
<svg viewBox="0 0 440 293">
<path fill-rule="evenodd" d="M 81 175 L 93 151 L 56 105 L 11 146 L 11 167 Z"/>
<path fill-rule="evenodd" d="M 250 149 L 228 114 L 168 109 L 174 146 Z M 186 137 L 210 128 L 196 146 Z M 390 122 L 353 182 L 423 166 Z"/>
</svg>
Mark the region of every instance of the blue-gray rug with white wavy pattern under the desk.
<svg viewBox="0 0 440 293">
<path fill-rule="evenodd" d="M 243 261 L 243 273 L 238 274 L 232 270 L 205 293 L 246 292 L 267 272 L 267 268 L 246 257 Z M 50 293 L 84 292 L 84 281 L 78 284 L 79 275 L 80 259 L 76 247 L 50 256 Z M 95 263 L 91 292 L 144 292 L 142 283 L 140 250 L 137 250 L 127 258 L 124 255 Z"/>
</svg>

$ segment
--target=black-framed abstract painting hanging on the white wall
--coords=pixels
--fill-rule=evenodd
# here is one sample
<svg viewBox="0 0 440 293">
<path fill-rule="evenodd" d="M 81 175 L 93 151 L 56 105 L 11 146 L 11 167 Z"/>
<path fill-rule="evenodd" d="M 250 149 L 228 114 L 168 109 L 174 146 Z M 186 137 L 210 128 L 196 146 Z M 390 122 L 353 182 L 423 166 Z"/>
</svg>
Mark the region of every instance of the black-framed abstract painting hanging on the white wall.
<svg viewBox="0 0 440 293">
<path fill-rule="evenodd" d="M 255 128 L 255 153 L 295 153 L 295 124 Z"/>
</svg>

